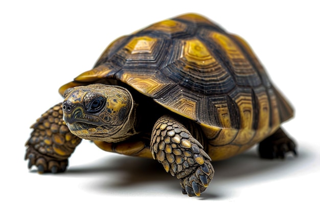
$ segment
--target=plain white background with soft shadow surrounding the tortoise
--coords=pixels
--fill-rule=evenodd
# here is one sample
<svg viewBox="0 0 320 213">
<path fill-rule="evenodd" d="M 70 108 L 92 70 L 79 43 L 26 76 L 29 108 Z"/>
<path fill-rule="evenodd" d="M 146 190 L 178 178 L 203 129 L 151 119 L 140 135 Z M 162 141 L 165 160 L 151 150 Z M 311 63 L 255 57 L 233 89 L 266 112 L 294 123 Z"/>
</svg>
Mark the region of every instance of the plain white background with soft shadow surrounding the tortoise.
<svg viewBox="0 0 320 213">
<path fill-rule="evenodd" d="M 7 1 L 0 3 L 1 212 L 316 212 L 319 199 L 319 5 L 316 1 Z M 295 108 L 284 124 L 299 157 L 262 160 L 256 148 L 214 162 L 201 197 L 153 160 L 83 141 L 64 174 L 27 169 L 30 125 L 57 89 L 92 68 L 117 37 L 197 12 L 245 38 Z"/>
</svg>

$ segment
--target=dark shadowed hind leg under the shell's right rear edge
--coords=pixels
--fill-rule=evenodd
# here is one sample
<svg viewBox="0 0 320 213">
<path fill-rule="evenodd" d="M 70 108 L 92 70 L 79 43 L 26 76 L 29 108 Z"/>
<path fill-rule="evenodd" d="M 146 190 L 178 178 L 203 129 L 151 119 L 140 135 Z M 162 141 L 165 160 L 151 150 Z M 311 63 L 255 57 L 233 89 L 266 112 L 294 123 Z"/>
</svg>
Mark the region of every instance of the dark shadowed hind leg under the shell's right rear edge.
<svg viewBox="0 0 320 213">
<path fill-rule="evenodd" d="M 293 140 L 281 128 L 259 144 L 259 154 L 262 158 L 284 158 L 288 152 L 297 155 Z"/>
</svg>

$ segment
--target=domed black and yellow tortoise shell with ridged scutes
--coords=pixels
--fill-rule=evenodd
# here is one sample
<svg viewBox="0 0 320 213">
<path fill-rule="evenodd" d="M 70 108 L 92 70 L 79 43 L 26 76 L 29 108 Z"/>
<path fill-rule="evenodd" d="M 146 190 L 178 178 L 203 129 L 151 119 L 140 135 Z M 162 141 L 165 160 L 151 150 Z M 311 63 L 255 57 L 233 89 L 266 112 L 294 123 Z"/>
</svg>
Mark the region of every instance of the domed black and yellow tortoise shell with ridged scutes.
<svg viewBox="0 0 320 213">
<path fill-rule="evenodd" d="M 198 123 L 213 160 L 259 143 L 293 115 L 249 45 L 197 14 L 118 38 L 59 92 L 107 79 Z"/>
</svg>

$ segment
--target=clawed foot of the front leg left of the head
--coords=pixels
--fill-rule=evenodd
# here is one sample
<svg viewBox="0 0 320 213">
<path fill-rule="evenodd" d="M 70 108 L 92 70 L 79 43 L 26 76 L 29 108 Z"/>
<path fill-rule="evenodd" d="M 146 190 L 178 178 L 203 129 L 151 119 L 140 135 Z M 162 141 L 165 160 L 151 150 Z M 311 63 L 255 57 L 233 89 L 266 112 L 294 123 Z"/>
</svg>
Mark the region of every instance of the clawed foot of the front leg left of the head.
<svg viewBox="0 0 320 213">
<path fill-rule="evenodd" d="M 38 173 L 40 174 L 64 172 L 68 165 L 67 159 L 57 160 L 52 157 L 42 155 L 32 147 L 28 147 L 25 159 L 29 160 L 28 168 L 31 169 L 31 167 L 35 165 L 38 169 Z"/>
</svg>

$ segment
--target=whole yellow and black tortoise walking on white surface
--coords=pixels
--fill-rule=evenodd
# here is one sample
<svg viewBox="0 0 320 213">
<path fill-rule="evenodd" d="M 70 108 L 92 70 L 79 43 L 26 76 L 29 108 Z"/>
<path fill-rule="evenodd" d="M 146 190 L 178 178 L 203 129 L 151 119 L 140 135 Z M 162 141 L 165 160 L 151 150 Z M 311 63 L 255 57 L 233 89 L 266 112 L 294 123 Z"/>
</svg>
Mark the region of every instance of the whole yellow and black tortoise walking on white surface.
<svg viewBox="0 0 320 213">
<path fill-rule="evenodd" d="M 209 186 L 213 161 L 259 143 L 262 158 L 296 155 L 281 123 L 293 109 L 241 37 L 184 14 L 113 41 L 93 69 L 60 87 L 27 141 L 29 169 L 64 172 L 81 139 L 153 158 L 182 193 Z"/>
</svg>

